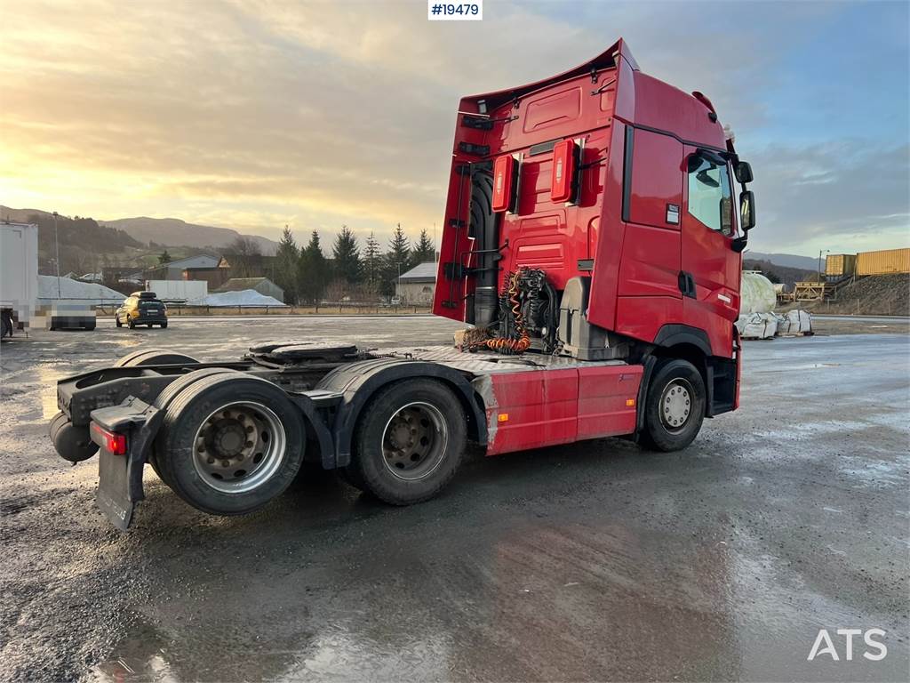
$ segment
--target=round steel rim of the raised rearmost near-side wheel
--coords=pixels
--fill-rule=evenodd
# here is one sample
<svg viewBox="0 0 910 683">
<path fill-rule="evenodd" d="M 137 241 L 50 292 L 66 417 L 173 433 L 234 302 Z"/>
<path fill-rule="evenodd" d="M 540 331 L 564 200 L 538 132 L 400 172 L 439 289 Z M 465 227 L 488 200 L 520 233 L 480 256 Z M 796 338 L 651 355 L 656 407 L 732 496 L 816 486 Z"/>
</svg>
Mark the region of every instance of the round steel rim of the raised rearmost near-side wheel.
<svg viewBox="0 0 910 683">
<path fill-rule="evenodd" d="M 284 425 L 262 403 L 222 405 L 203 420 L 193 438 L 197 474 L 223 494 L 243 494 L 265 484 L 287 453 Z"/>
</svg>

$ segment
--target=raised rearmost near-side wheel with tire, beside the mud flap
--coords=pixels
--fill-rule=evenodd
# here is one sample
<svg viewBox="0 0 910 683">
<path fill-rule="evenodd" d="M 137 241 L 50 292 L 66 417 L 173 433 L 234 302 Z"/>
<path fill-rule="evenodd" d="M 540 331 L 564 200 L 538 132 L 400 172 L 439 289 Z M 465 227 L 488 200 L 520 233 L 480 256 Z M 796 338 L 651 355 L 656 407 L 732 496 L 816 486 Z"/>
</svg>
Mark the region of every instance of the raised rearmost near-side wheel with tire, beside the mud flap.
<svg viewBox="0 0 910 683">
<path fill-rule="evenodd" d="M 228 371 L 177 393 L 154 449 L 162 479 L 189 505 L 246 515 L 288 488 L 305 443 L 302 417 L 282 389 Z"/>
</svg>

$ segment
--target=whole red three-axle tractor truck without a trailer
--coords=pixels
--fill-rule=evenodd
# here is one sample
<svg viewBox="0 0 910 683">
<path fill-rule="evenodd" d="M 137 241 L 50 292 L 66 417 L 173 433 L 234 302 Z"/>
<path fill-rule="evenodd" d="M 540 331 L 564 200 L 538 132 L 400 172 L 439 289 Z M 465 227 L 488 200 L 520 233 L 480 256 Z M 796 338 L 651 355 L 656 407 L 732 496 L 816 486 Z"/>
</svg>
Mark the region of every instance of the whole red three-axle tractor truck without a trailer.
<svg viewBox="0 0 910 683">
<path fill-rule="evenodd" d="M 465 97 L 433 303 L 467 323 L 454 345 L 136 352 L 58 382 L 57 453 L 98 454 L 97 502 L 126 529 L 146 464 L 190 505 L 240 515 L 305 462 L 408 505 L 450 481 L 469 442 L 684 448 L 739 402 L 751 180 L 711 101 L 643 74 L 622 40 Z"/>
</svg>

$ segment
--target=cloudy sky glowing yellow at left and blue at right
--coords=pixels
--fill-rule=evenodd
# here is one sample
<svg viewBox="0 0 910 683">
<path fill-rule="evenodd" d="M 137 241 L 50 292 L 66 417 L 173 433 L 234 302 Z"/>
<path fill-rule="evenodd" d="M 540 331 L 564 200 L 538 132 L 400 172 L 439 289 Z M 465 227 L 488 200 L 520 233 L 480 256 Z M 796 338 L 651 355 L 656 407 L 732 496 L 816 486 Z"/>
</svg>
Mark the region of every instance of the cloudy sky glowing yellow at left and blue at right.
<svg viewBox="0 0 910 683">
<path fill-rule="evenodd" d="M 439 226 L 460 97 L 626 39 L 753 165 L 750 247 L 910 246 L 910 3 L 0 0 L 0 204 L 277 240 Z"/>
</svg>

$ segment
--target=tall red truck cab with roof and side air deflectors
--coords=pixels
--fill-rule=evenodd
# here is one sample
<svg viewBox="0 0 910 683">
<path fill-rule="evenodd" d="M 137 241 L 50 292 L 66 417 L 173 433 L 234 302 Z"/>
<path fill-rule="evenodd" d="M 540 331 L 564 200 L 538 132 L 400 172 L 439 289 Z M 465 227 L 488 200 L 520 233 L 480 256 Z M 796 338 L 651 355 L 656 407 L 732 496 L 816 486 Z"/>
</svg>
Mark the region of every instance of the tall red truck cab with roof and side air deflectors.
<svg viewBox="0 0 910 683">
<path fill-rule="evenodd" d="M 434 312 L 501 335 L 510 273 L 542 272 L 523 295 L 531 351 L 683 358 L 708 415 L 732 410 L 754 201 L 711 101 L 643 74 L 621 39 L 458 116 Z"/>
</svg>

